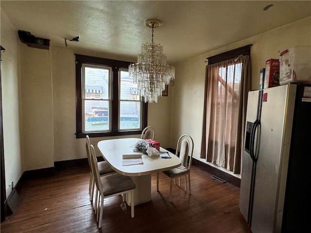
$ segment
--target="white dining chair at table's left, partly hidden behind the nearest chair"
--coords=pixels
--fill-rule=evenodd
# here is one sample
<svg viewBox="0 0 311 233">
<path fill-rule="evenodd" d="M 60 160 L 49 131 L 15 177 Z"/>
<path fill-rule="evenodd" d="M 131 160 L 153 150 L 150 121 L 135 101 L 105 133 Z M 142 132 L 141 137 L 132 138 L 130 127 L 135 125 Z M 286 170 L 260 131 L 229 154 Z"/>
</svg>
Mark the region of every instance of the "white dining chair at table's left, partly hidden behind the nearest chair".
<svg viewBox="0 0 311 233">
<path fill-rule="evenodd" d="M 89 136 L 86 135 L 86 155 L 87 155 L 87 161 L 88 161 L 88 166 L 89 166 L 89 170 L 90 170 L 88 192 L 89 192 L 89 196 L 90 196 L 90 201 L 93 202 L 95 180 L 94 180 L 92 167 L 91 167 L 90 146 L 91 146 L 91 143 L 89 140 Z M 116 171 L 114 169 L 112 169 L 112 167 L 109 166 L 109 164 L 106 161 L 98 162 L 98 170 L 99 170 L 100 176 L 112 175 L 112 174 L 116 173 Z M 96 207 L 96 205 L 94 205 L 94 209 L 95 209 L 95 207 Z M 96 209 L 95 209 L 95 211 L 96 211 Z"/>
</svg>

